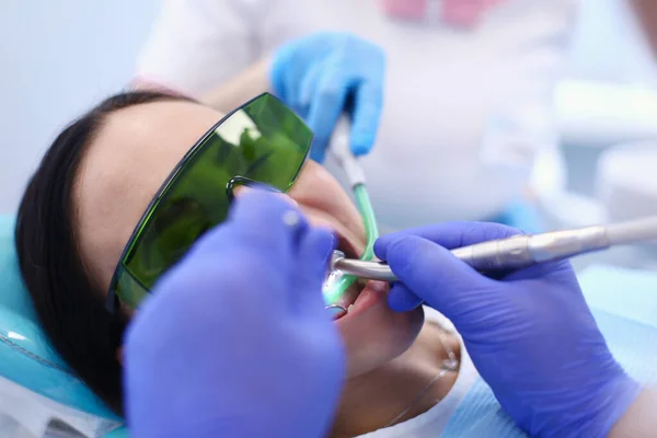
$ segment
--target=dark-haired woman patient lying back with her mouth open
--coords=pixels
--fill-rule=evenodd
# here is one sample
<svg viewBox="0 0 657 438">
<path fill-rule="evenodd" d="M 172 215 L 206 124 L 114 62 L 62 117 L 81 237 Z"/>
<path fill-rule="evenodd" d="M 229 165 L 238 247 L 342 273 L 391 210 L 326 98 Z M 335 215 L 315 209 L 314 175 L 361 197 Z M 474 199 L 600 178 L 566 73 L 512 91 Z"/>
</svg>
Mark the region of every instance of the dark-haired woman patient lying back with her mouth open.
<svg viewBox="0 0 657 438">
<path fill-rule="evenodd" d="M 41 322 L 62 358 L 117 413 L 131 311 L 104 307 L 113 273 L 163 181 L 221 116 L 168 94 L 111 97 L 59 135 L 23 197 L 16 247 Z M 364 250 L 358 211 L 320 164 L 307 161 L 288 195 L 312 222 L 334 229 L 343 249 Z M 449 322 L 436 313 L 425 322 L 422 308 L 394 313 L 385 293 L 387 285 L 368 283 L 335 321 L 348 357 L 335 437 L 382 428 L 372 436 L 438 436 L 475 377 Z"/>
</svg>

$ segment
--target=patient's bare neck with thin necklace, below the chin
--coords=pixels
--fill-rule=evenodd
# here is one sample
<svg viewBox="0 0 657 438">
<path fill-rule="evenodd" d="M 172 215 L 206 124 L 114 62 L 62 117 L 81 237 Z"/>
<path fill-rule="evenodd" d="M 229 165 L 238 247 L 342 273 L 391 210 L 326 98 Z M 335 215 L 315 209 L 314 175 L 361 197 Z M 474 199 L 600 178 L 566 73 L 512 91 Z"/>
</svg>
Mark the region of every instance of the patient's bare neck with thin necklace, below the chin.
<svg viewBox="0 0 657 438">
<path fill-rule="evenodd" d="M 349 380 L 342 394 L 333 425 L 334 438 L 354 437 L 385 427 L 393 418 L 411 410 L 395 423 L 424 414 L 451 390 L 458 371 L 449 371 L 416 400 L 448 359 L 442 343 L 460 359 L 460 344 L 437 324 L 425 323 L 415 343 L 403 355 L 367 374 Z"/>
</svg>

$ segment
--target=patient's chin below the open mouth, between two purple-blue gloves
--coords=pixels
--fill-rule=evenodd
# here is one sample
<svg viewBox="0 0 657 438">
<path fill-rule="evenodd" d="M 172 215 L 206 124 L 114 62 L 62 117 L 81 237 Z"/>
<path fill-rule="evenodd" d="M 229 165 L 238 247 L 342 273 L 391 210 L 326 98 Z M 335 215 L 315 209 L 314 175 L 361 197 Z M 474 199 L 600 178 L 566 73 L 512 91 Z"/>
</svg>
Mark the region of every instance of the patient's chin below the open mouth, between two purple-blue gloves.
<svg viewBox="0 0 657 438">
<path fill-rule="evenodd" d="M 406 351 L 424 324 L 420 308 L 397 313 L 385 300 L 339 325 L 347 349 L 347 378 L 372 371 Z"/>
</svg>

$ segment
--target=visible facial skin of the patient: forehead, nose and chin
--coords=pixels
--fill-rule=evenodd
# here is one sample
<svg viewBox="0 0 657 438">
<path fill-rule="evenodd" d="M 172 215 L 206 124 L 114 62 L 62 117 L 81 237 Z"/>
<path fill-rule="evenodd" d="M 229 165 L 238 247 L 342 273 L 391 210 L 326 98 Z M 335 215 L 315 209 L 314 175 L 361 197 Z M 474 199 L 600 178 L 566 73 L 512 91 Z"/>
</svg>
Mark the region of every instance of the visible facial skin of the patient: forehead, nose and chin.
<svg viewBox="0 0 657 438">
<path fill-rule="evenodd" d="M 181 101 L 142 104 L 110 116 L 82 160 L 74 189 L 80 250 L 97 288 L 107 290 L 124 246 L 162 182 L 220 117 Z M 346 250 L 362 250 L 358 211 L 324 168 L 307 162 L 289 196 L 311 222 L 336 230 Z M 385 295 L 385 285 L 369 283 L 353 311 L 336 321 L 349 377 L 396 357 L 419 332 L 422 310 L 394 313 Z"/>
</svg>

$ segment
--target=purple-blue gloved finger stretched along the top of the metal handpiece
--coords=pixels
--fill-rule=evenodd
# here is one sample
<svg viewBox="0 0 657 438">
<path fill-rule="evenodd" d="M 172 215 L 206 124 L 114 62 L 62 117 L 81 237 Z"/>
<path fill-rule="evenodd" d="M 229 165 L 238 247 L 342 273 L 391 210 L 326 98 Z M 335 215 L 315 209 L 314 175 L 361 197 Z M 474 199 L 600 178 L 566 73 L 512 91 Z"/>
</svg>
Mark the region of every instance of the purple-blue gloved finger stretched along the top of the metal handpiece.
<svg viewBox="0 0 657 438">
<path fill-rule="evenodd" d="M 374 244 L 374 253 L 379 258 L 385 258 L 390 243 L 405 235 L 416 235 L 452 250 L 520 233 L 519 230 L 499 223 L 445 222 L 383 235 Z"/>
</svg>

